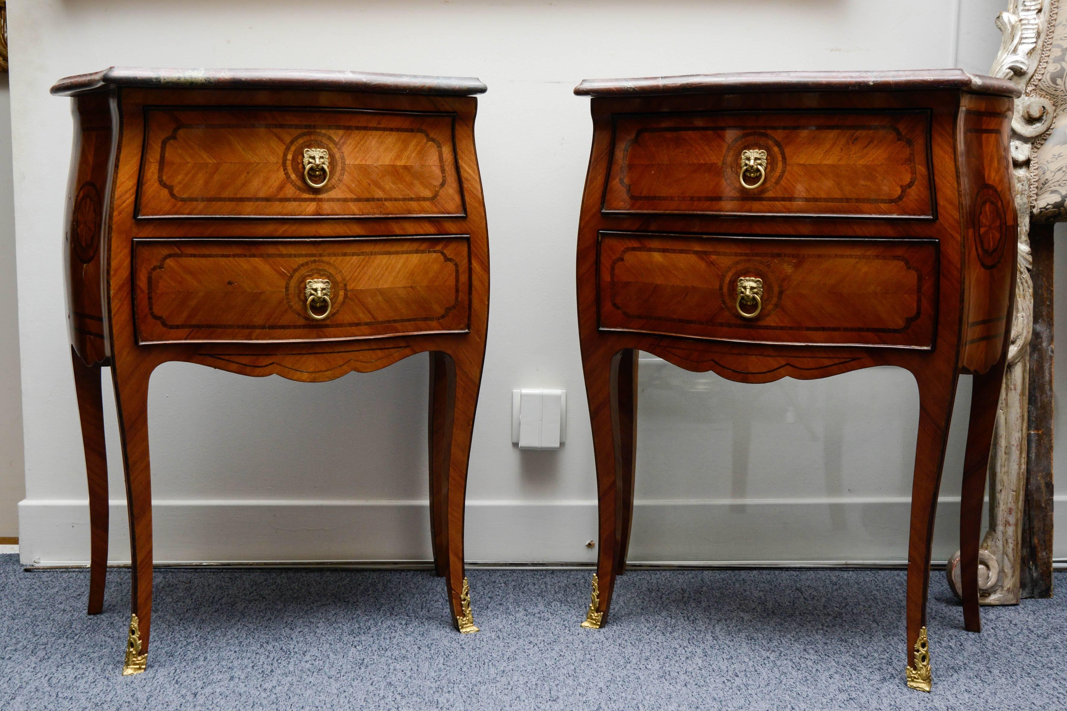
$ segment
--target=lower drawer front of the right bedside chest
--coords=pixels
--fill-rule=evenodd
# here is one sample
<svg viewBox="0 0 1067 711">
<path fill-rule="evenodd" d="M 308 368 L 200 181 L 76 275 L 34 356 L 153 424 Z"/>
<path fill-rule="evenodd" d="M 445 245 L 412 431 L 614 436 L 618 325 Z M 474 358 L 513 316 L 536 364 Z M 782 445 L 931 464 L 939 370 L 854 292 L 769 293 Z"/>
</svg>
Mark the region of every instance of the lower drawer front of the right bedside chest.
<svg viewBox="0 0 1067 711">
<path fill-rule="evenodd" d="M 936 240 L 605 231 L 599 249 L 602 330 L 759 343 L 934 344 Z M 759 312 L 746 318 L 757 303 L 738 301 L 738 284 L 751 280 L 759 280 Z"/>
</svg>

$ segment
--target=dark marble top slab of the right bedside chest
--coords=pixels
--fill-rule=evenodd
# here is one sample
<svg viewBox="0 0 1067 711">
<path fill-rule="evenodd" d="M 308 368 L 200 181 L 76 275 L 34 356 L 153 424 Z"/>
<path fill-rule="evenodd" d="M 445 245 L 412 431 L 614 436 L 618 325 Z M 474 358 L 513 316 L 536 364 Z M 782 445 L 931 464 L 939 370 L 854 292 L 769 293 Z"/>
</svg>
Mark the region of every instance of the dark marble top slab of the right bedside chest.
<svg viewBox="0 0 1067 711">
<path fill-rule="evenodd" d="M 962 69 L 751 71 L 634 79 L 586 79 L 574 88 L 574 93 L 578 96 L 648 96 L 746 92 L 899 92 L 929 88 L 954 88 L 972 94 L 997 96 L 1021 94 L 1015 84 L 1005 79 L 972 75 Z"/>
</svg>

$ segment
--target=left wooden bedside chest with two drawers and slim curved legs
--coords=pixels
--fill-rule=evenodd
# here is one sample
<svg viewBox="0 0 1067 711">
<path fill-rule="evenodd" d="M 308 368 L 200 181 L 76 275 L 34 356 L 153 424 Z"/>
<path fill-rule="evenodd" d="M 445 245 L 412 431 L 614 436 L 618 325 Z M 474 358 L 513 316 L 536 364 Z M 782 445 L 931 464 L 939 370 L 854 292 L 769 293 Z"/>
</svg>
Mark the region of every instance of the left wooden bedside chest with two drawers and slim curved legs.
<svg viewBox="0 0 1067 711">
<path fill-rule="evenodd" d="M 434 567 L 460 627 L 489 311 L 477 101 L 466 95 L 483 91 L 462 78 L 116 68 L 52 87 L 74 97 L 65 245 L 89 612 L 101 611 L 107 565 L 100 366 L 110 366 L 142 651 L 152 630 L 148 381 L 172 360 L 323 382 L 429 353 Z M 304 147 L 330 153 L 322 189 L 296 180 Z M 306 312 L 313 279 L 332 286 L 322 320 Z"/>
</svg>

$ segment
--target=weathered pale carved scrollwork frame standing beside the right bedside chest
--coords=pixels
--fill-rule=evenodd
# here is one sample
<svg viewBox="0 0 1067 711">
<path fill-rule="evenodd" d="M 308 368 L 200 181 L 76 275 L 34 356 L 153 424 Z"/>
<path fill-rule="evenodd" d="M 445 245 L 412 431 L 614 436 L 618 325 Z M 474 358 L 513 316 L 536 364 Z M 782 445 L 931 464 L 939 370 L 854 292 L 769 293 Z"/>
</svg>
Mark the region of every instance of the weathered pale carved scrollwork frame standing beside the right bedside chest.
<svg viewBox="0 0 1067 711">
<path fill-rule="evenodd" d="M 989 456 L 989 530 L 980 559 L 996 560 L 999 576 L 980 587 L 983 604 L 1019 602 L 1022 499 L 1026 481 L 1026 409 L 1030 339 L 1034 294 L 1030 221 L 1067 216 L 1067 131 L 1057 126 L 1067 111 L 1067 13 L 1058 16 L 1058 0 L 1009 0 L 997 18 L 1001 49 L 990 74 L 1023 90 L 1012 119 L 1012 163 L 1019 232 L 1015 312 L 1008 343 L 1004 387 L 998 405 Z M 955 576 L 957 552 L 949 562 Z M 989 565 L 985 566 L 989 568 Z"/>
</svg>

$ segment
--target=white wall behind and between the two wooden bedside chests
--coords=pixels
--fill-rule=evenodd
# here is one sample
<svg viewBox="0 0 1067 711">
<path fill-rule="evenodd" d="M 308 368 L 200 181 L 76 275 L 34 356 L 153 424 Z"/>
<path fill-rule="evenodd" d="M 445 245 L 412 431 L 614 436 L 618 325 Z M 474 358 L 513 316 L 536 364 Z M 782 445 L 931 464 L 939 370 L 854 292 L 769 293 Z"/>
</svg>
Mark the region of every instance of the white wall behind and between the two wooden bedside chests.
<svg viewBox="0 0 1067 711">
<path fill-rule="evenodd" d="M 586 77 L 951 66 L 971 51 L 957 28 L 964 38 L 981 25 L 970 13 L 988 4 L 991 21 L 1000 5 L 965 4 L 966 18 L 957 0 L 19 0 L 10 7 L 12 55 L 25 58 L 12 70 L 19 282 L 62 279 L 70 119 L 68 101 L 48 95 L 60 77 L 111 64 L 480 77 L 493 288 L 467 558 L 591 562 L 573 281 L 591 126 L 588 100 L 571 88 Z M 982 70 L 996 30 L 988 46 L 968 32 L 987 55 L 972 67 Z M 58 288 L 19 301 L 20 544 L 23 562 L 41 565 L 89 551 L 63 308 Z M 737 386 L 648 361 L 641 378 L 634 560 L 905 558 L 918 391 L 903 371 Z M 160 368 L 149 395 L 157 560 L 427 559 L 425 383 L 425 357 L 321 385 Z M 511 446 L 514 387 L 572 393 L 561 451 Z M 969 385 L 946 464 L 940 559 L 956 547 L 968 402 Z M 107 417 L 117 561 L 128 548 L 110 403 Z"/>
</svg>

